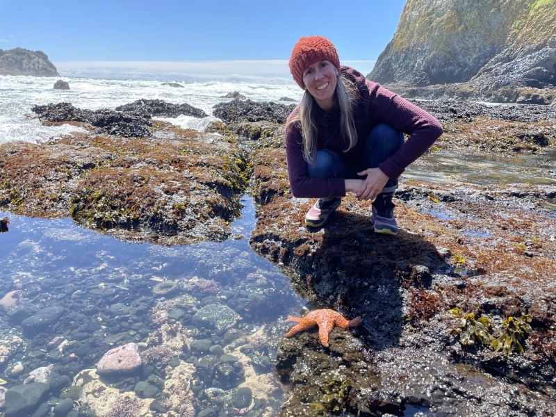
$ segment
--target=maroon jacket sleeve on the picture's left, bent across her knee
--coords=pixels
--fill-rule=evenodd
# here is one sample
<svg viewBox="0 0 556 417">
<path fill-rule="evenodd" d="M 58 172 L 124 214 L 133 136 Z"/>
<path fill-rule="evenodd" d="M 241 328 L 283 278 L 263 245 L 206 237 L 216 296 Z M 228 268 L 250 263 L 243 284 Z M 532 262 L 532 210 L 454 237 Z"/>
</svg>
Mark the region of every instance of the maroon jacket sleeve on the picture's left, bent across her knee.
<svg viewBox="0 0 556 417">
<path fill-rule="evenodd" d="M 312 178 L 303 158 L 303 139 L 297 122 L 286 126 L 286 161 L 288 178 L 294 197 L 322 198 L 343 197 L 343 178 Z"/>
</svg>

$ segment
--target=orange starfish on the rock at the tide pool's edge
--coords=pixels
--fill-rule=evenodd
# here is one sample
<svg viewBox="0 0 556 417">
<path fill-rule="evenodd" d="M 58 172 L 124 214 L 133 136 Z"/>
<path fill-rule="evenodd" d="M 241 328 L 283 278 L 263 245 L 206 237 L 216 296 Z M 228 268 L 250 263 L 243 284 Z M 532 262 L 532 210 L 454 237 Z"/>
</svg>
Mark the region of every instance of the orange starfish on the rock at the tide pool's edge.
<svg viewBox="0 0 556 417">
<path fill-rule="evenodd" d="M 309 329 L 318 325 L 318 337 L 320 338 L 320 343 L 323 346 L 328 347 L 328 334 L 334 329 L 334 325 L 341 327 L 342 329 L 347 329 L 348 327 L 355 327 L 361 322 L 361 317 L 357 316 L 353 320 L 346 320 L 340 313 L 336 313 L 334 310 L 322 309 L 313 310 L 311 313 L 307 314 L 305 317 L 288 317 L 286 321 L 299 323 L 293 326 L 286 337 L 291 337 L 297 332 Z"/>
</svg>

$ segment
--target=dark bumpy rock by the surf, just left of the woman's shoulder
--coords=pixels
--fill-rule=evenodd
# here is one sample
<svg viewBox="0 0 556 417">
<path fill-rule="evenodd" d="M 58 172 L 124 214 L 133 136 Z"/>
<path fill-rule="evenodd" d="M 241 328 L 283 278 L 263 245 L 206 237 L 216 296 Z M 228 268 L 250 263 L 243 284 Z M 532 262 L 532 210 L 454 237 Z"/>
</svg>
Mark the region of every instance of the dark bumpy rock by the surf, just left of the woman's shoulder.
<svg viewBox="0 0 556 417">
<path fill-rule="evenodd" d="M 286 123 L 288 115 L 293 111 L 295 105 L 263 101 L 257 103 L 252 100 L 235 99 L 229 103 L 220 103 L 214 106 L 213 114 L 226 123 L 238 122 L 260 122 L 266 120 L 274 123 Z"/>
</svg>

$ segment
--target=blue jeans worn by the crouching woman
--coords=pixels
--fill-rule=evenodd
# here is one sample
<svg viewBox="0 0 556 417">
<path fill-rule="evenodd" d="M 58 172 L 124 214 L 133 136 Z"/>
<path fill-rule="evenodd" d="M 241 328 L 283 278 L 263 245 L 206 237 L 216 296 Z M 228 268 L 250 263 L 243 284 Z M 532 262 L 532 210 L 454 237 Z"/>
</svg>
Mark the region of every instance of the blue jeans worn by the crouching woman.
<svg viewBox="0 0 556 417">
<path fill-rule="evenodd" d="M 377 168 L 380 163 L 398 152 L 403 144 L 404 134 L 402 132 L 393 129 L 389 124 L 377 124 L 365 140 L 363 155 L 357 167 L 347 165 L 341 154 L 324 149 L 317 151 L 315 161 L 312 164 L 307 163 L 309 177 L 364 179 L 359 177 L 357 172 L 367 168 Z M 382 193 L 393 193 L 397 188 L 398 179 L 389 179 L 382 188 Z"/>
</svg>

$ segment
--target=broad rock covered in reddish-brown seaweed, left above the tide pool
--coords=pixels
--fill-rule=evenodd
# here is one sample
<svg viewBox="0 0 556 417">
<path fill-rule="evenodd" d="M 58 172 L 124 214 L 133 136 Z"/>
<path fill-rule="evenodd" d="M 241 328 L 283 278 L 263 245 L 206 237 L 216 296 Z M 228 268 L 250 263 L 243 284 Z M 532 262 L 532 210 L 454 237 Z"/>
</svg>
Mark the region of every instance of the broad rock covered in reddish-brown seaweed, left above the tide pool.
<svg viewBox="0 0 556 417">
<path fill-rule="evenodd" d="M 243 151 L 219 136 L 156 126 L 152 138 L 76 134 L 48 145 L 2 145 L 0 206 L 71 215 L 125 240 L 229 236 L 247 185 Z"/>
</svg>

